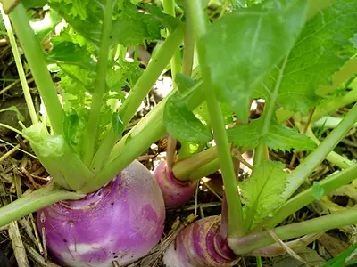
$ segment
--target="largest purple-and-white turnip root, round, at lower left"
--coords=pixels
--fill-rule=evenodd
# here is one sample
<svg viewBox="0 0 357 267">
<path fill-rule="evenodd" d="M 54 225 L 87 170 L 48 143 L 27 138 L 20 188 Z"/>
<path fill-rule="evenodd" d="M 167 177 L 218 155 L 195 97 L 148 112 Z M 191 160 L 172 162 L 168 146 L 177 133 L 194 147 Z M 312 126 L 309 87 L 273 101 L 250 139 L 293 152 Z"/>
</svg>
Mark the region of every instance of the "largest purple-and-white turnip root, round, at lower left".
<svg viewBox="0 0 357 267">
<path fill-rule="evenodd" d="M 37 212 L 49 255 L 72 267 L 110 267 L 146 255 L 161 239 L 164 220 L 160 188 L 138 161 L 85 198 Z"/>
</svg>

